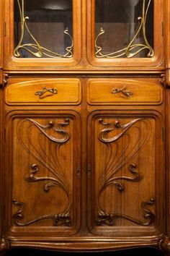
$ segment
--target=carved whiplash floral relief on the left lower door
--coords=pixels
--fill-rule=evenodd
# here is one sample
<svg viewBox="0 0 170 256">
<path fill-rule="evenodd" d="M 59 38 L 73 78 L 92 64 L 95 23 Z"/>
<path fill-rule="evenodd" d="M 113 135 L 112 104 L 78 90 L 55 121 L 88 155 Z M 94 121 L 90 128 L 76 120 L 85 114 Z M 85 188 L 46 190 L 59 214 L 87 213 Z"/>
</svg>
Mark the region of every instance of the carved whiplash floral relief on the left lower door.
<svg viewBox="0 0 170 256">
<path fill-rule="evenodd" d="M 24 129 L 25 122 L 29 123 L 29 126 L 27 127 L 26 136 L 23 137 L 22 129 Z M 54 226 L 71 225 L 71 196 L 68 187 L 68 179 L 60 162 L 61 145 L 68 142 L 70 139 L 70 134 L 63 129 L 68 126 L 69 122 L 69 119 L 65 119 L 62 123 L 58 122 L 58 124 L 54 124 L 53 121 L 50 121 L 47 125 L 42 125 L 33 119 L 24 119 L 20 121 L 17 130 L 19 142 L 23 145 L 24 149 L 37 159 L 42 166 L 50 171 L 51 174 L 51 176 L 37 176 L 39 167 L 36 163 L 33 163 L 30 172 L 24 176 L 24 179 L 27 180 L 27 182 L 46 181 L 47 183 L 45 183 L 43 187 L 45 192 L 48 192 L 51 187 L 60 187 L 68 197 L 68 204 L 66 205 L 63 213 L 39 216 L 32 221 L 23 222 L 22 219 L 24 218 L 24 208 L 26 204 L 24 202 L 17 202 L 17 200 L 14 199 L 13 203 L 14 205 L 17 205 L 19 210 L 17 213 L 14 213 L 12 219 L 17 226 L 28 226 L 32 223 L 48 218 L 54 219 Z M 36 127 L 39 131 L 39 133 L 36 133 L 37 141 L 34 141 L 31 138 L 32 127 Z M 48 133 L 49 130 L 52 131 L 53 134 L 60 135 L 60 137 L 54 137 L 51 135 L 52 133 Z M 50 155 L 47 155 L 49 152 L 47 153 L 43 147 L 43 142 L 45 141 L 44 137 L 46 137 L 48 139 L 48 143 L 50 143 Z"/>
</svg>

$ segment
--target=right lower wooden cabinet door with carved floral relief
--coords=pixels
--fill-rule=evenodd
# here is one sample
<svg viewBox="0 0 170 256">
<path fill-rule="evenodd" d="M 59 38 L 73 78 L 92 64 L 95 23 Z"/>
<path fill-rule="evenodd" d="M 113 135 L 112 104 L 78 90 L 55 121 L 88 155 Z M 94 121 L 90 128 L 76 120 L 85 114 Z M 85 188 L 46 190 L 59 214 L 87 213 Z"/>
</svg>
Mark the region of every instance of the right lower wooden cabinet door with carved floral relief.
<svg viewBox="0 0 170 256">
<path fill-rule="evenodd" d="M 100 112 L 89 119 L 93 234 L 151 236 L 164 228 L 162 116 L 144 112 Z"/>
</svg>

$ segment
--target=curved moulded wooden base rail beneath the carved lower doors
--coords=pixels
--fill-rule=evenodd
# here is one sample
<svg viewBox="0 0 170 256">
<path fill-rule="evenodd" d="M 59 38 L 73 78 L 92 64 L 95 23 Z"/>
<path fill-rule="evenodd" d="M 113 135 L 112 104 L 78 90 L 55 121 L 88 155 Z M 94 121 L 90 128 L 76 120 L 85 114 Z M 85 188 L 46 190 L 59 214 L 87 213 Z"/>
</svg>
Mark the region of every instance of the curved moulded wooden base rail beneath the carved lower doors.
<svg viewBox="0 0 170 256">
<path fill-rule="evenodd" d="M 165 255 L 170 255 L 170 239 L 165 237 L 160 240 L 153 240 L 149 242 L 134 242 L 134 241 L 94 241 L 91 239 L 73 239 L 68 242 L 52 242 L 52 241 L 14 241 L 14 239 L 1 239 L 0 245 L 0 255 L 9 249 L 13 248 L 32 248 L 32 249 L 47 249 L 56 250 L 61 252 L 111 252 L 120 249 L 135 249 L 139 247 L 154 247 L 156 249 L 161 249 Z"/>
</svg>

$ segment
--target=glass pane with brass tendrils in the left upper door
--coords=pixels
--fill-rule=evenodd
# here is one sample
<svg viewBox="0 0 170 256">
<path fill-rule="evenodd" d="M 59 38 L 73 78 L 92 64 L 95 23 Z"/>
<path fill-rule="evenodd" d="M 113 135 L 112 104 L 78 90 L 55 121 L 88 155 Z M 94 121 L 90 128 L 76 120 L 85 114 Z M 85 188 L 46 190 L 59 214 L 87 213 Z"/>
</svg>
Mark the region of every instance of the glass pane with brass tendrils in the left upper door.
<svg viewBox="0 0 170 256">
<path fill-rule="evenodd" d="M 71 58 L 72 0 L 14 0 L 14 56 Z"/>
</svg>

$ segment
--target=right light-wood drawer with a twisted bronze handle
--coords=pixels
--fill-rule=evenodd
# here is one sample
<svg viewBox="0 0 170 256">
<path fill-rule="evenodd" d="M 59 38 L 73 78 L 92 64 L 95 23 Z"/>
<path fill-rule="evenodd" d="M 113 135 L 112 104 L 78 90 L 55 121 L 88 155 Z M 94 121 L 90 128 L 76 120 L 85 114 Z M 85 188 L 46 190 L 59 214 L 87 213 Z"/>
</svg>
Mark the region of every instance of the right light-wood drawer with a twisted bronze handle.
<svg viewBox="0 0 170 256">
<path fill-rule="evenodd" d="M 90 105 L 159 105 L 163 101 L 161 85 L 147 79 L 91 79 L 87 87 Z"/>
</svg>

